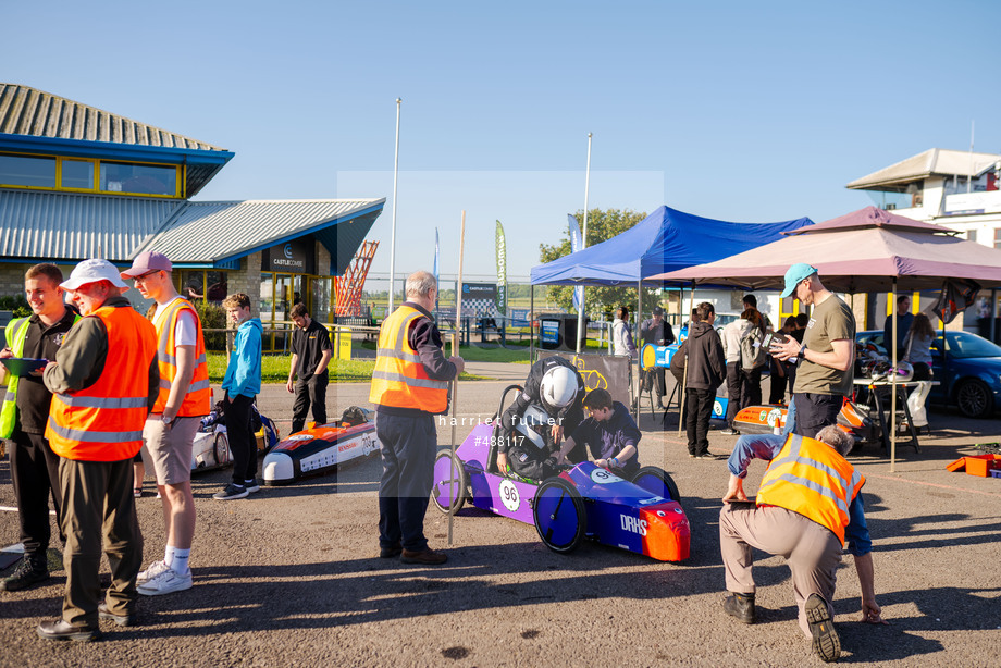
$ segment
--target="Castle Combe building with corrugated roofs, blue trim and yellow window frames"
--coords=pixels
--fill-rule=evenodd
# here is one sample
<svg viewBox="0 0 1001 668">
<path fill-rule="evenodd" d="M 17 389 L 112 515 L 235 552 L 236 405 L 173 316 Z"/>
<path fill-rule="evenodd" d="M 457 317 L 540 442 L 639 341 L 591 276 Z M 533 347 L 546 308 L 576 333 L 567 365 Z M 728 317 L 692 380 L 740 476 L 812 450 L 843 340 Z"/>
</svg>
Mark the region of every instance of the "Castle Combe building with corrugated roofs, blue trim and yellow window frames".
<svg viewBox="0 0 1001 668">
<path fill-rule="evenodd" d="M 193 299 L 258 298 L 265 329 L 296 301 L 331 322 L 343 274 L 385 198 L 191 201 L 224 148 L 28 86 L 0 83 L 0 294 L 53 262 L 121 267 L 144 250 L 174 263 Z M 138 304 L 137 293 L 129 293 Z M 281 347 L 281 341 L 271 338 Z M 269 342 L 265 342 L 265 346 Z"/>
</svg>

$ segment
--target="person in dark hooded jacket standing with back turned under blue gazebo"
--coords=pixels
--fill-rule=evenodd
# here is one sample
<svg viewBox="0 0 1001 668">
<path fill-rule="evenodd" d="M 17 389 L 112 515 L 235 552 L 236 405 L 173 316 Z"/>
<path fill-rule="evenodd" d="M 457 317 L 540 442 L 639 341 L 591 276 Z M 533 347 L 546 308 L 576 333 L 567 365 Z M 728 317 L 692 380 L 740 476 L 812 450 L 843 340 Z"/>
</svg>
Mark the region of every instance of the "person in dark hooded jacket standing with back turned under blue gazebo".
<svg viewBox="0 0 1001 668">
<path fill-rule="evenodd" d="M 727 358 L 713 327 L 715 321 L 712 304 L 703 301 L 695 307 L 688 338 L 671 358 L 671 373 L 684 383 L 689 457 L 695 459 L 714 459 L 709 454 L 709 417 L 716 388 L 727 378 Z"/>
</svg>

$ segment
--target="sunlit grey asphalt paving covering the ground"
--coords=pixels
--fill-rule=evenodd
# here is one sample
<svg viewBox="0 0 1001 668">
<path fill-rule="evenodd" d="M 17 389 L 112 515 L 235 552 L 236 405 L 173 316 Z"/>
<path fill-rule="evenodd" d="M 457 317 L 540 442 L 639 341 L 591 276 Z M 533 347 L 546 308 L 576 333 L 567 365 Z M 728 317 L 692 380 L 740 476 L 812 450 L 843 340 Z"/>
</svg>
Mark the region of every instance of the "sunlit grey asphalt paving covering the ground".
<svg viewBox="0 0 1001 668">
<path fill-rule="evenodd" d="M 456 440 L 496 410 L 506 380 L 462 383 Z M 514 367 L 515 369 L 509 369 Z M 486 369 L 489 370 L 489 368 Z M 484 373 L 485 375 L 485 373 Z M 369 406 L 364 383 L 332 385 L 329 412 Z M 268 385 L 261 410 L 287 434 L 292 395 Z M 833 603 L 842 663 L 861 666 L 996 666 L 1001 638 L 998 555 L 1001 479 L 951 473 L 946 465 L 999 441 L 996 419 L 931 411 L 920 453 L 890 461 L 875 446 L 851 458 L 867 483 L 877 602 L 889 626 L 858 621 L 860 592 L 846 556 Z M 644 409 L 640 459 L 670 472 L 692 524 L 692 554 L 659 562 L 585 542 L 570 555 L 546 549 L 534 528 L 466 508 L 448 522 L 425 519 L 442 567 L 380 559 L 378 457 L 285 487 L 218 502 L 227 471 L 196 474 L 195 586 L 140 597 L 139 626 L 102 622 L 94 643 L 41 640 L 35 627 L 61 610 L 64 574 L 44 586 L 0 593 L 0 666 L 802 666 L 820 665 L 795 623 L 789 570 L 755 553 L 759 622 L 722 611 L 718 514 L 724 460 L 691 460 L 677 418 Z M 438 428 L 440 447 L 452 426 Z M 734 442 L 710 432 L 710 449 Z M 761 480 L 755 466 L 745 488 Z M 147 486 L 149 483 L 147 483 Z M 160 502 L 137 502 L 148 564 L 161 558 Z M 0 506 L 12 506 L 8 460 L 0 461 Z M 17 541 L 16 514 L 0 512 L 0 543 Z M 108 571 L 104 564 L 103 570 Z"/>
</svg>

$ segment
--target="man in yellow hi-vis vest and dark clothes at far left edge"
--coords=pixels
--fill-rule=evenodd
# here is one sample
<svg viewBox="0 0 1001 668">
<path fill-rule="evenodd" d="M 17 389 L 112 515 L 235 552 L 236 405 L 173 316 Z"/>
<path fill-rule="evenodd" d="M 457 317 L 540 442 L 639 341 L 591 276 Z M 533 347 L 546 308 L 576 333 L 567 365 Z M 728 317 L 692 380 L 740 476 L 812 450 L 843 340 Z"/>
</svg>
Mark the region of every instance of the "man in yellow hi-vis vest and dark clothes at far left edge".
<svg viewBox="0 0 1001 668">
<path fill-rule="evenodd" d="M 24 275 L 24 294 L 32 316 L 7 325 L 7 347 L 0 358 L 26 357 L 55 359 L 55 354 L 73 323 L 79 318 L 63 304 L 62 272 L 54 264 L 36 264 Z M 7 373 L 0 366 L 0 381 L 7 376 L 7 394 L 0 413 L 0 437 L 11 441 L 11 478 L 21 520 L 24 559 L 9 577 L 0 580 L 0 591 L 15 592 L 48 580 L 46 551 L 52 530 L 49 523 L 49 494 L 59 509 L 59 456 L 46 441 L 46 423 L 52 393 L 41 381 L 41 370 L 24 376 Z M 59 531 L 60 541 L 66 536 Z"/>
</svg>

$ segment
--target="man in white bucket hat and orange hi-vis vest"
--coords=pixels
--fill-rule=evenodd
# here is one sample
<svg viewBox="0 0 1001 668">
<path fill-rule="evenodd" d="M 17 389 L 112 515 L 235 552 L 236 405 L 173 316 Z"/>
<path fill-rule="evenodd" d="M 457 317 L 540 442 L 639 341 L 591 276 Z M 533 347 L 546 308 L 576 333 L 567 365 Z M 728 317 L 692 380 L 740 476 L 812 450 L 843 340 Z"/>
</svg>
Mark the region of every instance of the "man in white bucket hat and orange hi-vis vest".
<svg viewBox="0 0 1001 668">
<path fill-rule="evenodd" d="M 108 260 L 85 260 L 62 283 L 83 318 L 45 370 L 52 393 L 46 438 L 62 457 L 60 522 L 66 534 L 62 617 L 38 626 L 47 640 L 92 640 L 98 618 L 135 621 L 143 534 L 136 520 L 132 459 L 160 393 L 157 333 L 122 297 Z M 111 586 L 100 601 L 101 548 Z"/>
</svg>

